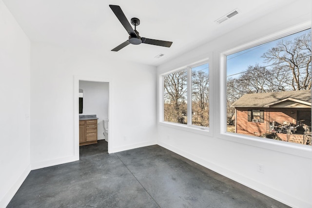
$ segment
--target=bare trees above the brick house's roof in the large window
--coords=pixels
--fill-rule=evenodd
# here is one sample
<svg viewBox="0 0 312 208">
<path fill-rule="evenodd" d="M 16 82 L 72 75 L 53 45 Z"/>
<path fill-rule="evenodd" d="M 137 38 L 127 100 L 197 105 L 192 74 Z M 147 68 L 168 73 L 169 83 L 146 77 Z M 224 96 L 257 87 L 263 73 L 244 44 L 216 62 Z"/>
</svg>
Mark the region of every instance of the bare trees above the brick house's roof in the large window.
<svg viewBox="0 0 312 208">
<path fill-rule="evenodd" d="M 293 41 L 282 39 L 261 57 L 268 66 L 255 63 L 237 78 L 227 80 L 228 124 L 233 124 L 231 105 L 246 93 L 311 89 L 311 33 Z"/>
</svg>

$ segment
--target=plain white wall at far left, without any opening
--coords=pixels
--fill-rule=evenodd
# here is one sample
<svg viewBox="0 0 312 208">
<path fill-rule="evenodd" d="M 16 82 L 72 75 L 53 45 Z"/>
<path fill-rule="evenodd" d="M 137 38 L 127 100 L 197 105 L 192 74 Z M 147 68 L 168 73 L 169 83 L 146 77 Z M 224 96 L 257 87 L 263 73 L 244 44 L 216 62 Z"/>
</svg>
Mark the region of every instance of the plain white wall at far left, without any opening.
<svg viewBox="0 0 312 208">
<path fill-rule="evenodd" d="M 0 207 L 30 172 L 30 41 L 0 0 Z"/>
</svg>

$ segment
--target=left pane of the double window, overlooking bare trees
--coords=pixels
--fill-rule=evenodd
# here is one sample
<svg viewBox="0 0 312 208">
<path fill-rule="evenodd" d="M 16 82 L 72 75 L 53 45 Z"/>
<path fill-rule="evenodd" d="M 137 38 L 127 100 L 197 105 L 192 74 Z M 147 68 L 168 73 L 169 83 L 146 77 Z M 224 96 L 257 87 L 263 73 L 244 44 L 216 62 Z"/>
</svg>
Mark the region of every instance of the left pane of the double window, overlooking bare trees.
<svg viewBox="0 0 312 208">
<path fill-rule="evenodd" d="M 164 121 L 187 124 L 187 70 L 164 76 Z"/>
</svg>

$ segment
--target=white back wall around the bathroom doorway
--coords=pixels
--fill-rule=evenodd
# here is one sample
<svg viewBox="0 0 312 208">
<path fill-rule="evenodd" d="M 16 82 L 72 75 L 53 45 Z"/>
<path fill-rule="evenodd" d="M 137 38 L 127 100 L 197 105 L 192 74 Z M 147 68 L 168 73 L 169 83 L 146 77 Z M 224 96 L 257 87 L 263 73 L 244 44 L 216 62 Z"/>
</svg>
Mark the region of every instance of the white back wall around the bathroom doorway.
<svg viewBox="0 0 312 208">
<path fill-rule="evenodd" d="M 76 79 L 110 83 L 110 152 L 156 144 L 156 67 L 108 56 L 32 44 L 32 168 L 78 159 Z"/>
</svg>

